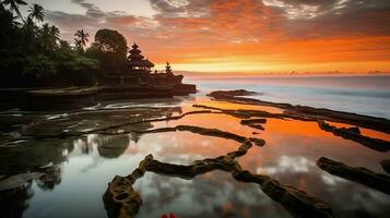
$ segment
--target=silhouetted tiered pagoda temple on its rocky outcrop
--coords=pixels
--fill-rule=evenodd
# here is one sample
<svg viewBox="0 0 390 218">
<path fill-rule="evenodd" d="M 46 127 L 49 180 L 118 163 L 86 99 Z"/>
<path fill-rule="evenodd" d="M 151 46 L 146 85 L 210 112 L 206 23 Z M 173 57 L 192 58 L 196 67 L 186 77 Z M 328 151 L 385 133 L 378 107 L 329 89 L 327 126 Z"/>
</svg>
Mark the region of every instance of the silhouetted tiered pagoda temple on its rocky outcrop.
<svg viewBox="0 0 390 218">
<path fill-rule="evenodd" d="M 123 72 L 110 73 L 103 76 L 102 85 L 105 90 L 133 89 L 155 93 L 172 93 L 172 95 L 188 95 L 196 93 L 196 85 L 182 84 L 182 75 L 175 75 L 169 62 L 165 71 L 152 73 L 154 63 L 142 55 L 134 43 L 129 51 L 127 68 Z"/>
</svg>

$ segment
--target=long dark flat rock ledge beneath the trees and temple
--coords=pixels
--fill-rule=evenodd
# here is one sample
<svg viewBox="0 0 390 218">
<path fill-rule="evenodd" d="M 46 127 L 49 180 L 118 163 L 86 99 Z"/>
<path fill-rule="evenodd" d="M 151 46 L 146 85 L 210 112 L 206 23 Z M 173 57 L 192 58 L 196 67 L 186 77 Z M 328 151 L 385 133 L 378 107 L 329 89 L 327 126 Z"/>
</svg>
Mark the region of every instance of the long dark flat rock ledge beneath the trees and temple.
<svg viewBox="0 0 390 218">
<path fill-rule="evenodd" d="M 95 106 L 104 100 L 173 98 L 197 93 L 192 84 L 175 86 L 96 86 L 0 89 L 1 109 L 61 110 Z"/>
</svg>

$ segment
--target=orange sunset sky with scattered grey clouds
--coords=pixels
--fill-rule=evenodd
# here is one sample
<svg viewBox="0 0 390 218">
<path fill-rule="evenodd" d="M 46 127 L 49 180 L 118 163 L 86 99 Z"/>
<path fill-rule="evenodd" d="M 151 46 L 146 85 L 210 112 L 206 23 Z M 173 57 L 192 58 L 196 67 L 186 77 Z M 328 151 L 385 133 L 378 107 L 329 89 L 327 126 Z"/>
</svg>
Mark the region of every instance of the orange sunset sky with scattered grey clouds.
<svg viewBox="0 0 390 218">
<path fill-rule="evenodd" d="M 72 41 L 119 31 L 157 69 L 390 72 L 389 0 L 27 0 Z M 26 8 L 23 9 L 26 11 Z"/>
</svg>

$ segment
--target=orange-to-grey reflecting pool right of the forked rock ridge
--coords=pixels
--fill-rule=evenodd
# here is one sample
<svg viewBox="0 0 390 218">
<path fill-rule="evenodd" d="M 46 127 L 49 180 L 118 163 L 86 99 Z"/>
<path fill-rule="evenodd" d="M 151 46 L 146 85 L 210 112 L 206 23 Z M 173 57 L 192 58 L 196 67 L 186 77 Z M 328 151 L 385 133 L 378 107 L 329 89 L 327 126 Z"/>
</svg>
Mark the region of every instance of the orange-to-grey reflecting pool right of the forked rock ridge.
<svg viewBox="0 0 390 218">
<path fill-rule="evenodd" d="M 364 185 L 340 179 L 316 166 L 321 156 L 383 172 L 379 161 L 388 157 L 355 142 L 321 131 L 315 122 L 269 119 L 261 137 L 264 147 L 253 147 L 239 158 L 252 172 L 297 186 L 327 201 L 340 217 L 387 217 L 390 197 Z"/>
</svg>

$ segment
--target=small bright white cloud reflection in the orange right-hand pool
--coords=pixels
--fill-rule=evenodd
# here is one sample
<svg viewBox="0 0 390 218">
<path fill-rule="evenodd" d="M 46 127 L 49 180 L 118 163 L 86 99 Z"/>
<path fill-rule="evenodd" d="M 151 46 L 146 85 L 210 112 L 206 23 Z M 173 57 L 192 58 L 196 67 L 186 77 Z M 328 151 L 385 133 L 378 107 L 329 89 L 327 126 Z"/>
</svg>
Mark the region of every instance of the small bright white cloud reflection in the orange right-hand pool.
<svg viewBox="0 0 390 218">
<path fill-rule="evenodd" d="M 281 172 L 308 172 L 309 168 L 316 167 L 314 161 L 305 157 L 281 156 L 277 164 L 273 167 L 257 168 L 259 174 L 276 174 Z"/>
</svg>

